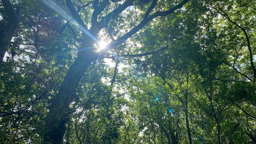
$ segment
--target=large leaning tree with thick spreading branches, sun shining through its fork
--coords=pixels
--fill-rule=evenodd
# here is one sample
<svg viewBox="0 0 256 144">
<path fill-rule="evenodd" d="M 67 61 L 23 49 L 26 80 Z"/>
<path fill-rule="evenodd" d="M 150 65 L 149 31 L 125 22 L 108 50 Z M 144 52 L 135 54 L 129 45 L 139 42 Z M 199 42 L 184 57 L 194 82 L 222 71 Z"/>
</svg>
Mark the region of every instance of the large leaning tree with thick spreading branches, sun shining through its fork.
<svg viewBox="0 0 256 144">
<path fill-rule="evenodd" d="M 137 3 L 148 3 L 149 1 L 139 1 Z M 75 91 L 76 87 L 79 84 L 79 81 L 84 75 L 84 72 L 89 67 L 92 61 L 97 60 L 98 57 L 104 56 L 106 52 L 110 49 L 114 49 L 117 45 L 122 44 L 129 37 L 138 32 L 141 28 L 143 28 L 149 21 L 153 20 L 156 17 L 164 16 L 168 14 L 172 14 L 175 10 L 181 8 L 184 4 L 186 4 L 188 0 L 184 0 L 181 3 L 170 7 L 168 10 L 160 12 L 156 11 L 153 14 L 149 15 L 150 12 L 157 5 L 157 1 L 153 1 L 148 7 L 147 11 L 143 19 L 140 23 L 132 28 L 129 32 L 119 37 L 112 43 L 108 44 L 106 49 L 101 50 L 99 53 L 95 53 L 92 49 L 94 43 L 97 40 L 97 35 L 100 30 L 104 27 L 108 27 L 108 23 L 111 19 L 118 16 L 118 14 L 124 11 L 128 6 L 132 6 L 136 4 L 136 2 L 132 0 L 127 0 L 123 4 L 119 5 L 112 12 L 108 13 L 106 16 L 102 17 L 100 21 L 98 21 L 98 16 L 101 12 L 109 4 L 109 1 L 94 1 L 93 2 L 93 12 L 91 16 L 91 28 L 87 29 L 87 26 L 84 24 L 84 21 L 79 16 L 76 11 L 74 4 L 71 0 L 66 0 L 66 5 L 72 15 L 72 18 L 77 22 L 80 30 L 82 31 L 82 42 L 80 47 L 78 48 L 78 54 L 74 63 L 70 66 L 61 86 L 59 92 L 57 94 L 56 99 L 52 103 L 52 107 L 49 110 L 46 128 L 50 128 L 45 134 L 46 141 L 56 141 L 57 143 L 61 143 L 62 137 L 65 132 L 65 123 L 68 122 L 69 118 L 69 105 L 76 97 Z M 57 105 L 55 105 L 57 104 Z"/>
</svg>

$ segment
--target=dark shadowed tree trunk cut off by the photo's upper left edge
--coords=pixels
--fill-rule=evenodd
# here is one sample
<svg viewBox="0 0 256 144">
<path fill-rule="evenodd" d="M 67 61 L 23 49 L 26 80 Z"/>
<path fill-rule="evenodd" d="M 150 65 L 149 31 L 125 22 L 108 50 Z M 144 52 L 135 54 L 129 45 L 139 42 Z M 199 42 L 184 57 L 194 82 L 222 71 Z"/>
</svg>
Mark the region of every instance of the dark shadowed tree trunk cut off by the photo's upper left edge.
<svg viewBox="0 0 256 144">
<path fill-rule="evenodd" d="M 4 59 L 4 54 L 7 51 L 12 37 L 18 28 L 18 14 L 12 8 L 10 0 L 1 0 L 4 10 L 8 16 L 7 24 L 0 23 L 0 67 Z"/>
</svg>

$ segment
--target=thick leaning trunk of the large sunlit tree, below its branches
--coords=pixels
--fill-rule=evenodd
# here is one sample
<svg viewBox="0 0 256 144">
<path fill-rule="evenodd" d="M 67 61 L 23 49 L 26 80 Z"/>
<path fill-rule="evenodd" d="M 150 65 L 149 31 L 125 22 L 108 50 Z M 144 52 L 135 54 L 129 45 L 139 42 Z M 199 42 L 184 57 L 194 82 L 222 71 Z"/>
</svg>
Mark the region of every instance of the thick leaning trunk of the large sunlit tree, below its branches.
<svg viewBox="0 0 256 144">
<path fill-rule="evenodd" d="M 65 124 L 68 122 L 69 115 L 72 113 L 69 105 L 76 97 L 76 87 L 91 62 L 97 59 L 97 56 L 92 50 L 92 41 L 83 42 L 81 47 L 84 49 L 79 50 L 76 60 L 69 68 L 59 92 L 49 109 L 46 117 L 45 142 L 62 143 L 66 129 Z"/>
</svg>

